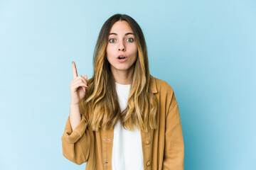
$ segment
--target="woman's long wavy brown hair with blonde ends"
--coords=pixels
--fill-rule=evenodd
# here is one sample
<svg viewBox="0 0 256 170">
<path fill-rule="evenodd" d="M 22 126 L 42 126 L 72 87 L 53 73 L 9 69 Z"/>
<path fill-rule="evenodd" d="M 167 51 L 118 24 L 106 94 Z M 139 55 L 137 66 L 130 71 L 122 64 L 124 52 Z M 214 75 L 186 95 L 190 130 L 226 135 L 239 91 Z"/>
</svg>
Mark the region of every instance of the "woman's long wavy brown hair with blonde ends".
<svg viewBox="0 0 256 170">
<path fill-rule="evenodd" d="M 129 23 L 138 49 L 127 107 L 122 112 L 106 55 L 108 36 L 117 21 Z M 146 42 L 139 24 L 130 16 L 122 14 L 115 14 L 107 19 L 97 39 L 93 62 L 94 74 L 87 82 L 89 88 L 80 105 L 80 111 L 87 118 L 92 130 L 113 129 L 119 118 L 122 126 L 128 130 L 134 130 L 134 127 L 144 132 L 156 129 L 156 97 L 149 88 L 149 61 Z"/>
</svg>

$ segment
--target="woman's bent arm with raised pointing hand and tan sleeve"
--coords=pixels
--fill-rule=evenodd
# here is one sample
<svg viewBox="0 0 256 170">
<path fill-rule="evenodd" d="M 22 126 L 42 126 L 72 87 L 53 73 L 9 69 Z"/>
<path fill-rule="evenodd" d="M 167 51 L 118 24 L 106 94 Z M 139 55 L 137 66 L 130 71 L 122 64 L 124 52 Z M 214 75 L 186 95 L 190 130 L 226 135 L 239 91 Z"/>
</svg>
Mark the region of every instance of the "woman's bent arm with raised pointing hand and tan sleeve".
<svg viewBox="0 0 256 170">
<path fill-rule="evenodd" d="M 82 164 L 87 162 L 90 147 L 93 145 L 91 142 L 93 133 L 89 132 L 87 120 L 84 115 L 81 117 L 80 114 L 84 113 L 80 109 L 82 108 L 80 104 L 82 104 L 82 98 L 85 97 L 86 88 L 88 87 L 87 76 L 78 76 L 75 62 L 72 62 L 72 65 L 73 81 L 70 82 L 70 115 L 61 140 L 63 156 L 75 164 Z"/>
</svg>

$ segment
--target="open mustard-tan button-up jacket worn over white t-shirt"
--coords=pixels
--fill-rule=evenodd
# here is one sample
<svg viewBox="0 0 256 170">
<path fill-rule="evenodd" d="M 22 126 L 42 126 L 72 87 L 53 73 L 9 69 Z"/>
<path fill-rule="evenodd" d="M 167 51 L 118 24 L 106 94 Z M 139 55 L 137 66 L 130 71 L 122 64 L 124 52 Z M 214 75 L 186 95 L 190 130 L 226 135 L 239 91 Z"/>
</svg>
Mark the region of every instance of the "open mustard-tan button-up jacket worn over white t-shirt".
<svg viewBox="0 0 256 170">
<path fill-rule="evenodd" d="M 151 77 L 150 89 L 158 101 L 158 128 L 141 131 L 144 170 L 183 170 L 183 135 L 174 91 L 166 81 L 154 77 Z M 68 117 L 61 137 L 63 156 L 75 164 L 87 162 L 85 170 L 111 170 L 113 133 L 114 130 L 93 131 L 83 115 L 72 131 Z"/>
</svg>

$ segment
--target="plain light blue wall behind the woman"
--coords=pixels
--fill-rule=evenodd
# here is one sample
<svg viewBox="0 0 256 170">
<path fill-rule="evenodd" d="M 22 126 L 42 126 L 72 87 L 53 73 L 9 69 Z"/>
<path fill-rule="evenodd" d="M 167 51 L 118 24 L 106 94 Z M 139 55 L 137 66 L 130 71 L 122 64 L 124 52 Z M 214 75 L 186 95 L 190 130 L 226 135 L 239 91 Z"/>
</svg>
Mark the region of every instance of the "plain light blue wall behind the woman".
<svg viewBox="0 0 256 170">
<path fill-rule="evenodd" d="M 85 169 L 62 155 L 72 61 L 92 76 L 102 24 L 141 26 L 174 89 L 185 169 L 256 169 L 256 1 L 0 0 L 0 169 Z"/>
</svg>

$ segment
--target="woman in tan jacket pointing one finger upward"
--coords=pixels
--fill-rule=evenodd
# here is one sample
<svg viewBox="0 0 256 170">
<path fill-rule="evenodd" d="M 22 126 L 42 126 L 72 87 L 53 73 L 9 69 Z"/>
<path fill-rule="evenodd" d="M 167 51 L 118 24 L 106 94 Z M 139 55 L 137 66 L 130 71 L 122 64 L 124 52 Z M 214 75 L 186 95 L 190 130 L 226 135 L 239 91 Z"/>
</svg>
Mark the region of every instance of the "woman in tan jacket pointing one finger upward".
<svg viewBox="0 0 256 170">
<path fill-rule="evenodd" d="M 133 18 L 102 26 L 94 75 L 73 62 L 63 155 L 85 169 L 183 169 L 183 135 L 171 86 L 149 74 L 146 42 Z"/>
</svg>

